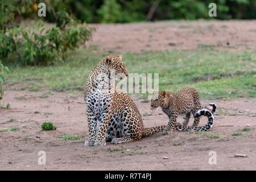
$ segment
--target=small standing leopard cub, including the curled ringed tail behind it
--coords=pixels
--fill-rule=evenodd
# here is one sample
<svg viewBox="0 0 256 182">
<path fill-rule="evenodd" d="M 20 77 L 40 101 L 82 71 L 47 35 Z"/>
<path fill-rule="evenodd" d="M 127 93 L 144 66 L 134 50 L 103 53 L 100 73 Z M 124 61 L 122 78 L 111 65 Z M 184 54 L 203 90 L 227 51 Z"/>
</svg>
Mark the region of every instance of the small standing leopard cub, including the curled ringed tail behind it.
<svg viewBox="0 0 256 182">
<path fill-rule="evenodd" d="M 216 105 L 210 103 L 213 107 L 212 111 L 202 109 L 200 104 L 200 96 L 194 88 L 183 88 L 176 93 L 166 91 L 155 92 L 151 100 L 151 107 L 162 107 L 164 113 L 169 117 L 167 127 L 164 129 L 164 134 L 172 133 L 176 128 L 178 131 L 207 131 L 213 126 L 213 113 L 216 110 Z M 189 118 L 193 114 L 195 118 L 193 126 L 187 126 Z M 185 114 L 183 126 L 176 126 L 177 116 Z M 197 127 L 200 122 L 200 116 L 206 115 L 208 117 L 207 125 Z"/>
</svg>

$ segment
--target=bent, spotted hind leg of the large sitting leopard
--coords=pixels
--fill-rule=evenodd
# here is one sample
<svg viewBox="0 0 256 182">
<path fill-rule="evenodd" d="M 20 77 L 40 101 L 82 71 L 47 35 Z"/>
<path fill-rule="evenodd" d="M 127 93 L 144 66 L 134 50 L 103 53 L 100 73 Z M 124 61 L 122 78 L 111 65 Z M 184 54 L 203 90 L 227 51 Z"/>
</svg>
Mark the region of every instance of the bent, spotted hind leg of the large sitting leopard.
<svg viewBox="0 0 256 182">
<path fill-rule="evenodd" d="M 118 127 L 117 135 L 112 139 L 111 143 L 127 143 L 133 140 L 141 139 L 142 126 L 137 113 L 133 109 L 126 108 L 119 115 L 120 127 Z"/>
</svg>

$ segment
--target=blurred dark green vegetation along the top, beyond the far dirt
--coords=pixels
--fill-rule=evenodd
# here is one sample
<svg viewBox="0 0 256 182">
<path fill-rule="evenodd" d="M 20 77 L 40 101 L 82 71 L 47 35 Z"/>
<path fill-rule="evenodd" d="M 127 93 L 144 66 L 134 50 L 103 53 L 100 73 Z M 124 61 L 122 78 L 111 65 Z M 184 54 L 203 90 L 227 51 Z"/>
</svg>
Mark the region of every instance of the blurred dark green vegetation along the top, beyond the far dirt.
<svg viewBox="0 0 256 182">
<path fill-rule="evenodd" d="M 2 1 L 2 0 L 1 0 Z M 11 3 L 12 1 L 6 1 Z M 168 19 L 209 19 L 209 3 L 217 5 L 217 19 L 255 19 L 255 0 L 13 0 L 14 16 L 17 19 L 38 18 L 36 4 L 45 2 L 45 20 L 55 22 L 55 11 L 65 10 L 82 22 L 87 23 L 124 23 L 145 20 Z"/>
</svg>

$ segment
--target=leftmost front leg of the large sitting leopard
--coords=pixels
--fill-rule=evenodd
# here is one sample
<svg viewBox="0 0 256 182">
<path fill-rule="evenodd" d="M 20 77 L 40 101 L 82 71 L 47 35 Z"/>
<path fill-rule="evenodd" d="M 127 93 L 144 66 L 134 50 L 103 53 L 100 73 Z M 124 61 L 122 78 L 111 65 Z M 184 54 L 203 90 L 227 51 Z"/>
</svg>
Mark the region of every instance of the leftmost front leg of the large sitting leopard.
<svg viewBox="0 0 256 182">
<path fill-rule="evenodd" d="M 86 115 L 88 119 L 89 139 L 85 141 L 84 145 L 93 146 L 96 140 L 97 117 L 90 111 L 90 109 L 87 110 Z"/>
</svg>

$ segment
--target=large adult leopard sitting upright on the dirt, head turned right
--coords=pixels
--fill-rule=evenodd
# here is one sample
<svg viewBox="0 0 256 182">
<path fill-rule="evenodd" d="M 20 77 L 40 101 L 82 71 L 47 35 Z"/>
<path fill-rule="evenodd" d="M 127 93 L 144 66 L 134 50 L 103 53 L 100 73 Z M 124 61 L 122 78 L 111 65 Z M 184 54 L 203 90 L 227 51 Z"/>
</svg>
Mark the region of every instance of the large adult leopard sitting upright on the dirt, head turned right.
<svg viewBox="0 0 256 182">
<path fill-rule="evenodd" d="M 165 126 L 144 129 L 141 114 L 130 96 L 115 88 L 115 78 L 127 76 L 121 56 L 106 56 L 90 72 L 85 86 L 89 139 L 85 146 L 126 143 L 139 140 Z M 100 129 L 96 136 L 97 121 Z"/>
</svg>

